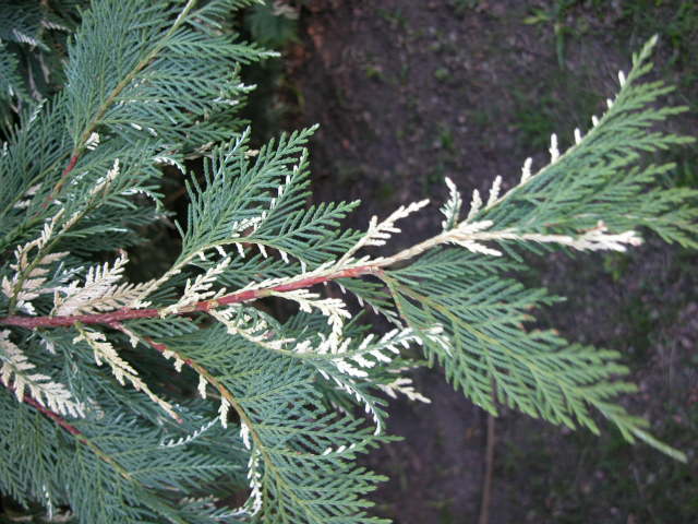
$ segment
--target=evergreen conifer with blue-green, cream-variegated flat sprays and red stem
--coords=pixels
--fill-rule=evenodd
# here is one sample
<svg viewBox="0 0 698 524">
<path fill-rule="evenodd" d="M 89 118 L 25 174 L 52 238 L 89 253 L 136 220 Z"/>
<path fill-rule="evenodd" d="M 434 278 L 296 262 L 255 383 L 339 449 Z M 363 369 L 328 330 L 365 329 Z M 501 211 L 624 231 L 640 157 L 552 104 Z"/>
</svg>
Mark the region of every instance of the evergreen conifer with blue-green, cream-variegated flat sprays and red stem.
<svg viewBox="0 0 698 524">
<path fill-rule="evenodd" d="M 385 395 L 429 402 L 409 347 L 490 413 L 605 419 L 685 460 L 618 403 L 635 390 L 622 356 L 533 329 L 556 298 L 513 276 L 530 254 L 625 251 L 640 231 L 698 245 L 698 192 L 645 162 L 691 140 L 657 128 L 684 108 L 645 79 L 654 40 L 567 151 L 553 135 L 550 164 L 527 159 L 468 206 L 446 180 L 441 229 L 376 255 L 429 202 L 347 230 L 358 202 L 306 205 L 314 128 L 250 146 L 239 68 L 270 53 L 228 26 L 248 3 L 95 0 L 50 96 L 26 96 L 0 46 L 0 102 L 17 111 L 0 153 L 0 491 L 85 524 L 383 522 L 364 498 L 382 477 L 357 457 L 389 440 Z M 186 183 L 180 250 L 136 282 L 130 254 L 171 218 L 165 167 Z M 348 297 L 393 329 L 373 332 Z"/>
</svg>

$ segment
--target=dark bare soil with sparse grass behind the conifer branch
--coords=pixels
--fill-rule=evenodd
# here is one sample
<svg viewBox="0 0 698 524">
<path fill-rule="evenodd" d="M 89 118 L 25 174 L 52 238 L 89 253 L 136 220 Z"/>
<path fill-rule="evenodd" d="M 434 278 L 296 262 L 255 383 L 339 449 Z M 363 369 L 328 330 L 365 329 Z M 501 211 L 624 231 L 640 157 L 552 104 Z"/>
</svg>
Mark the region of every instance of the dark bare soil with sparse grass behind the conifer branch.
<svg viewBox="0 0 698 524">
<path fill-rule="evenodd" d="M 617 90 L 618 69 L 629 69 L 631 51 L 654 31 L 663 37 L 660 74 L 679 83 L 671 102 L 695 109 L 698 67 L 685 52 L 688 39 L 695 56 L 698 24 L 686 22 L 678 39 L 664 34 L 683 23 L 679 10 L 698 20 L 693 2 L 684 4 L 303 2 L 302 41 L 287 58 L 286 82 L 298 107 L 293 124 L 321 123 L 312 147 L 317 199 L 361 199 L 351 225 L 364 227 L 368 216 L 401 203 L 441 204 L 444 176 L 466 193 L 496 175 L 506 186 L 527 156 L 545 162 L 551 132 L 569 142 L 575 127 L 589 127 Z M 696 112 L 675 126 L 695 131 Z M 695 153 L 677 155 L 688 163 L 681 183 L 697 186 Z M 437 223 L 434 215 L 411 221 L 404 245 Z M 628 405 L 690 461 L 629 446 L 607 427 L 598 439 L 505 410 L 495 426 L 490 523 L 698 522 L 696 262 L 655 239 L 627 257 L 532 262 L 532 284 L 571 297 L 541 321 L 570 340 L 624 352 L 640 388 Z M 392 402 L 389 429 L 405 440 L 368 458 L 390 477 L 374 496 L 375 513 L 400 524 L 476 523 L 486 416 L 438 370 L 416 380 L 433 403 Z"/>
</svg>

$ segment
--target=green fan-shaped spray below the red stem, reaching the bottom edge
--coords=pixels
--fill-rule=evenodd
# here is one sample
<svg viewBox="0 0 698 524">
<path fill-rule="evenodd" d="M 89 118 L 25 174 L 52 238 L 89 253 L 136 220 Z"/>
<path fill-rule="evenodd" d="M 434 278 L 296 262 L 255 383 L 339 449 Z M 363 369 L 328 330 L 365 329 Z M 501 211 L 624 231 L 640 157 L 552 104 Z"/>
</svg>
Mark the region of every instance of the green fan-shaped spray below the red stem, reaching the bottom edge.
<svg viewBox="0 0 698 524">
<path fill-rule="evenodd" d="M 363 512 L 372 504 L 362 496 L 382 477 L 354 460 L 384 439 L 357 418 L 327 412 L 314 366 L 254 348 L 220 327 L 170 342 L 215 369 L 248 414 L 252 453 L 263 468 L 261 522 L 375 522 Z"/>
</svg>

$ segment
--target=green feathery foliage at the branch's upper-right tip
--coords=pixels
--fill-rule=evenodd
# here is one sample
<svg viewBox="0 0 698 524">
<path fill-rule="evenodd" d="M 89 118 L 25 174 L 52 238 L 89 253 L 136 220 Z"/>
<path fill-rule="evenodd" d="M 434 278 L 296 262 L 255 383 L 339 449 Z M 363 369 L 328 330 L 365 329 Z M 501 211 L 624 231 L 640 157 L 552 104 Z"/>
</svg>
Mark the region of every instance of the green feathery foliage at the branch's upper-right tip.
<svg viewBox="0 0 698 524">
<path fill-rule="evenodd" d="M 648 187 L 674 170 L 675 165 L 640 166 L 642 158 L 691 143 L 690 136 L 667 134 L 657 123 L 687 108 L 650 104 L 673 91 L 661 81 L 640 83 L 652 69 L 651 47 L 635 57 L 636 67 L 625 87 L 570 154 L 564 155 L 515 191 L 510 205 L 481 216 L 537 233 L 569 234 L 603 221 L 612 230 L 649 228 L 665 241 L 696 248 L 697 191 Z"/>
</svg>

